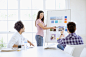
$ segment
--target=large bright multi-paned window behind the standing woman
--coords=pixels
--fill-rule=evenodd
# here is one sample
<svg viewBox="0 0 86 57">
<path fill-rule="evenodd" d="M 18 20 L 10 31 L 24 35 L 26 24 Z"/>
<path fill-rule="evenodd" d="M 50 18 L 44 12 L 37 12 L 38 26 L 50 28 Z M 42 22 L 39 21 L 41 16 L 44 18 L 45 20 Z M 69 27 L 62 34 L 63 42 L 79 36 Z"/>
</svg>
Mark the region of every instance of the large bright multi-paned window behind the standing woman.
<svg viewBox="0 0 86 57">
<path fill-rule="evenodd" d="M 25 25 L 23 36 L 35 43 L 35 20 L 39 10 L 47 19 L 48 10 L 65 9 L 65 0 L 0 0 L 0 39 L 6 45 L 16 30 L 14 24 L 21 20 Z M 1 42 L 0 42 L 1 43 Z"/>
</svg>

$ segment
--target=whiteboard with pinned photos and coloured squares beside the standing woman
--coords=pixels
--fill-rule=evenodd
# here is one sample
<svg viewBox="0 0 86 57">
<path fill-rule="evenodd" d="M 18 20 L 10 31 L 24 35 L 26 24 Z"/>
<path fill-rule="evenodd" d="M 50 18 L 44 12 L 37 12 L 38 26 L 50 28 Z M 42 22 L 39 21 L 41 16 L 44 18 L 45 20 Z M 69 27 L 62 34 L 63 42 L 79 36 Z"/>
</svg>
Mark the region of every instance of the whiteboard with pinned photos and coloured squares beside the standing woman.
<svg viewBox="0 0 86 57">
<path fill-rule="evenodd" d="M 71 21 L 71 10 L 51 10 L 47 11 L 47 27 L 56 26 L 56 30 L 48 29 L 46 30 L 46 43 L 57 43 L 57 39 L 60 36 L 60 30 L 64 29 L 64 35 L 68 35 L 67 33 L 67 23 Z"/>
</svg>

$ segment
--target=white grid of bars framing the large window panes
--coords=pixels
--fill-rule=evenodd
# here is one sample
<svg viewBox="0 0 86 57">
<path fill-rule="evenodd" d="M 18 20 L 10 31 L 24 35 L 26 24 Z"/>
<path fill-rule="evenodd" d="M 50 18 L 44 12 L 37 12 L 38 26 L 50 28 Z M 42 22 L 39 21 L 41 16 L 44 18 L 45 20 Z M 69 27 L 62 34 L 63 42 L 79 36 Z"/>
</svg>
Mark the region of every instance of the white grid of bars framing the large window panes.
<svg viewBox="0 0 86 57">
<path fill-rule="evenodd" d="M 18 1 L 18 9 L 8 9 L 8 0 L 7 0 L 7 9 L 0 9 L 0 10 L 7 10 L 7 20 L 0 20 L 0 21 L 7 21 L 7 31 L 0 32 L 0 34 L 7 34 L 7 43 L 8 43 L 8 34 L 9 33 L 15 33 L 15 32 L 8 31 L 8 21 L 17 21 L 17 20 L 8 20 L 8 10 L 18 10 L 18 20 L 21 20 L 20 19 L 20 11 L 21 10 L 31 10 L 31 19 L 32 19 L 32 11 L 33 10 L 40 10 L 40 9 L 32 9 L 32 0 L 31 0 L 31 9 L 20 9 L 20 0 L 17 0 L 17 1 Z M 45 9 L 46 8 L 45 2 L 46 2 L 46 0 L 43 0 L 43 11 L 44 12 L 46 12 L 47 10 L 50 10 L 50 9 Z M 66 0 L 65 0 L 65 4 L 66 4 Z M 66 5 L 65 5 L 65 8 L 66 8 Z M 55 0 L 55 10 L 57 10 L 56 9 L 56 0 Z M 46 18 L 45 18 L 45 20 L 46 20 Z M 35 42 L 33 42 L 33 38 L 35 38 L 35 37 L 33 37 L 33 34 L 36 33 L 36 32 L 33 32 L 33 21 L 35 21 L 35 20 L 21 20 L 21 21 L 32 21 L 32 32 L 24 32 L 24 33 L 32 33 L 32 41 L 31 42 L 35 43 Z M 46 33 L 46 31 L 44 33 Z"/>
</svg>

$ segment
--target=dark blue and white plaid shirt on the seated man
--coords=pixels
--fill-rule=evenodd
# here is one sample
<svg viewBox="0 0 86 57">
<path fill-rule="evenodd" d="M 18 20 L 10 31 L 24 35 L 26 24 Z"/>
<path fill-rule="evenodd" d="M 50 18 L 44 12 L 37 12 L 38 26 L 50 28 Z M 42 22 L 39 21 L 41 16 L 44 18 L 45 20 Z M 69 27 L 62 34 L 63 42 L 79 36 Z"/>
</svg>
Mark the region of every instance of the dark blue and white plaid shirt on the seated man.
<svg viewBox="0 0 86 57">
<path fill-rule="evenodd" d="M 82 38 L 80 36 L 76 35 L 76 33 L 71 33 L 66 38 L 58 39 L 57 42 L 64 47 L 66 45 L 84 44 Z"/>
</svg>

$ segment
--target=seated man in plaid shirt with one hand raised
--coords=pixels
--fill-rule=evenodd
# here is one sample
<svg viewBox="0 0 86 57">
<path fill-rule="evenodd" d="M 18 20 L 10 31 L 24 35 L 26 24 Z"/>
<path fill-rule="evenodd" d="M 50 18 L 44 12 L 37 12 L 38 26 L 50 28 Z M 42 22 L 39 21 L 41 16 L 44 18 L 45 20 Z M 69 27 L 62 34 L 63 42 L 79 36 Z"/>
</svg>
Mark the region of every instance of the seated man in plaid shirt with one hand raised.
<svg viewBox="0 0 86 57">
<path fill-rule="evenodd" d="M 57 45 L 57 48 L 64 50 L 66 45 L 84 44 L 82 38 L 80 36 L 76 35 L 75 30 L 76 30 L 76 24 L 74 22 L 69 22 L 67 24 L 67 31 L 68 31 L 69 35 L 66 36 L 66 38 L 61 38 L 63 36 L 63 32 L 64 32 L 64 31 L 61 31 L 61 35 L 60 35 L 59 39 L 57 40 L 57 42 L 59 43 Z"/>
</svg>

